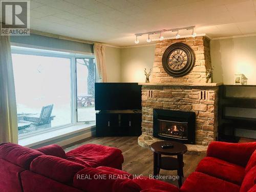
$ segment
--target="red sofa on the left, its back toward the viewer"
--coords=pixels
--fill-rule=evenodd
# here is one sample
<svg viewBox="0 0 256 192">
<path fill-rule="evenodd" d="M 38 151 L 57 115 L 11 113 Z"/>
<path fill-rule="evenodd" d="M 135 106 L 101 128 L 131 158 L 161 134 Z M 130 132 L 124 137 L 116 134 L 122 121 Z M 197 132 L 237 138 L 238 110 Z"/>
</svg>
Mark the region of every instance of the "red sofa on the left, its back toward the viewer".
<svg viewBox="0 0 256 192">
<path fill-rule="evenodd" d="M 0 145 L 0 191 L 179 191 L 174 185 L 146 177 L 134 179 L 123 172 L 121 153 L 96 144 L 66 154 L 58 145 L 33 150 L 4 143 Z M 102 176 L 105 178 L 99 178 Z"/>
</svg>

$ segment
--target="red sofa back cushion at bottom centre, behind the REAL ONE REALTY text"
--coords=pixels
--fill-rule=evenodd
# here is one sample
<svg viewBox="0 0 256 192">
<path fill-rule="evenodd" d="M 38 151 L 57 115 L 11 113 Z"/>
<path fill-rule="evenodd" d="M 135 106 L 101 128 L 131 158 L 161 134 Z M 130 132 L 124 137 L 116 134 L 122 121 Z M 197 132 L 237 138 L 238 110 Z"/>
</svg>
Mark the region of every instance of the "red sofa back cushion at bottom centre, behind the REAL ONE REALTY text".
<svg viewBox="0 0 256 192">
<path fill-rule="evenodd" d="M 75 176 L 73 185 L 87 192 L 140 191 L 131 179 L 119 178 L 117 174 L 99 168 L 84 168 Z"/>
</svg>

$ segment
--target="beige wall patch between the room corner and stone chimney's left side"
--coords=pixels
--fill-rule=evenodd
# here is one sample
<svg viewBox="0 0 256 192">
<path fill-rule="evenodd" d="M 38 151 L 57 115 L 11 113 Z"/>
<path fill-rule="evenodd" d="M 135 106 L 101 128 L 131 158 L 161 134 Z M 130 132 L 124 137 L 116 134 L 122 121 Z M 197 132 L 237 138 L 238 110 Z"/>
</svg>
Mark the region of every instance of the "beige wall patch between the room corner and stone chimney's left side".
<svg viewBox="0 0 256 192">
<path fill-rule="evenodd" d="M 153 68 L 155 45 L 121 49 L 121 81 L 144 82 L 144 69 Z"/>
</svg>

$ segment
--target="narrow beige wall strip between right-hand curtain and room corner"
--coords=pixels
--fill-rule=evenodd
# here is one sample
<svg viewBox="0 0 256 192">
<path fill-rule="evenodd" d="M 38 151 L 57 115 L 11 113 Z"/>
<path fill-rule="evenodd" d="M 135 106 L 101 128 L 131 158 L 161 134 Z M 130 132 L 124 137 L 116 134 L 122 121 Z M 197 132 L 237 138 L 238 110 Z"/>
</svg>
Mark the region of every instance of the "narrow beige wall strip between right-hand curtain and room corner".
<svg viewBox="0 0 256 192">
<path fill-rule="evenodd" d="M 108 47 L 105 49 L 106 78 L 108 82 L 121 81 L 121 49 Z"/>
</svg>

